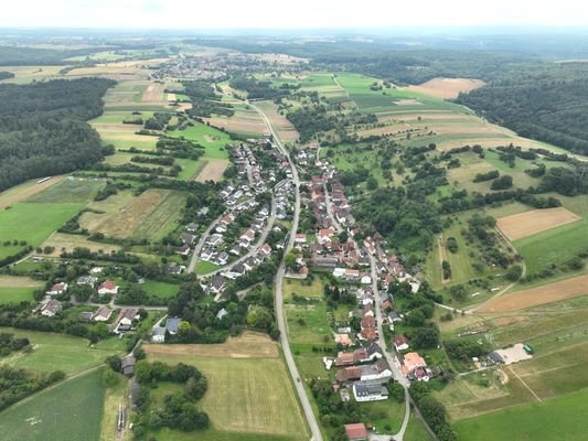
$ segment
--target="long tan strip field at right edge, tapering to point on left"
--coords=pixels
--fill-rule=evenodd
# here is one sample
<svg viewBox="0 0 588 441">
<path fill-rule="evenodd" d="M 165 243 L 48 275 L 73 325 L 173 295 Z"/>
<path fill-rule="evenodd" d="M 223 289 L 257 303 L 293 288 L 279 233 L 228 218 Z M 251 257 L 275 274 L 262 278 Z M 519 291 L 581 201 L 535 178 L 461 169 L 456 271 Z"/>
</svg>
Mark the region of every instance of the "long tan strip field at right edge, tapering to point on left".
<svg viewBox="0 0 588 441">
<path fill-rule="evenodd" d="M 501 295 L 478 312 L 512 312 L 588 294 L 588 275 Z"/>
</svg>

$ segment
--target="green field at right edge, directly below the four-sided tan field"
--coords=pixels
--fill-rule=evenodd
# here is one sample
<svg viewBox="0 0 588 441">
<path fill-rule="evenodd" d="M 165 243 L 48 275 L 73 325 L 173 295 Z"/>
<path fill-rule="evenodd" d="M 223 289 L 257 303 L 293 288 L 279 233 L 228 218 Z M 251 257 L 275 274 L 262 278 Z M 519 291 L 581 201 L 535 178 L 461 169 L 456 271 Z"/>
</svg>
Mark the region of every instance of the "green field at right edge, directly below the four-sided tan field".
<svg viewBox="0 0 588 441">
<path fill-rule="evenodd" d="M 513 243 L 524 257 L 528 273 L 560 265 L 587 247 L 588 218 L 524 237 Z"/>
</svg>

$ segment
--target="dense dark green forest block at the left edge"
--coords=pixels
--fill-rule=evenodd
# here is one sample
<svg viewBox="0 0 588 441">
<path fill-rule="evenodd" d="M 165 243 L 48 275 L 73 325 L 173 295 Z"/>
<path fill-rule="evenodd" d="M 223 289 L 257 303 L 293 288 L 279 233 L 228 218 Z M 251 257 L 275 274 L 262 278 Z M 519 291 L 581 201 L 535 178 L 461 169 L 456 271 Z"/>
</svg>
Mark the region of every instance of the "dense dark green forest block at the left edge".
<svg viewBox="0 0 588 441">
<path fill-rule="evenodd" d="M 101 115 L 101 97 L 114 84 L 81 78 L 0 85 L 0 191 L 100 161 L 100 138 L 86 121 Z"/>
</svg>

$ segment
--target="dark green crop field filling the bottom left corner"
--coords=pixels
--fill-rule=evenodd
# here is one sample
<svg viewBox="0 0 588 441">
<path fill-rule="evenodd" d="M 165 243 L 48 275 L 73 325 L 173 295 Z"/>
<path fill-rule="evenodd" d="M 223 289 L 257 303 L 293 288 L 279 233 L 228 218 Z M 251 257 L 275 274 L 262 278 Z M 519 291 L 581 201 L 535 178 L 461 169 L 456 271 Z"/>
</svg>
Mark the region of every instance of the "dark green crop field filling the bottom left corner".
<svg viewBox="0 0 588 441">
<path fill-rule="evenodd" d="M 103 401 L 103 370 L 96 369 L 1 412 L 2 440 L 97 441 Z"/>
</svg>

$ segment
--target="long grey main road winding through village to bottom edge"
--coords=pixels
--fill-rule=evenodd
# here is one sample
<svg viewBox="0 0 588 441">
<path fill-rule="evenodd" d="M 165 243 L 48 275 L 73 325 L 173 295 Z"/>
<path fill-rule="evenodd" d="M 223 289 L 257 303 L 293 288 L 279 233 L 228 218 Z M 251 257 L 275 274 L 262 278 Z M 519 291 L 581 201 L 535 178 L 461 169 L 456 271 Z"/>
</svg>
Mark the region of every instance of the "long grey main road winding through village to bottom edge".
<svg viewBox="0 0 588 441">
<path fill-rule="evenodd" d="M 290 170 L 292 171 L 292 181 L 295 183 L 295 211 L 293 211 L 292 226 L 290 228 L 290 236 L 288 238 L 288 245 L 286 246 L 286 249 L 284 252 L 284 256 L 286 257 L 286 255 L 293 248 L 296 232 L 298 230 L 298 222 L 300 219 L 300 179 L 298 176 L 298 171 L 296 170 L 296 165 L 292 159 L 290 158 L 290 153 L 288 153 L 288 150 L 281 143 L 280 137 L 274 130 L 274 126 L 271 125 L 271 121 L 269 120 L 267 115 L 264 112 L 264 110 L 261 110 L 259 107 L 257 107 L 253 103 L 243 101 L 229 95 L 225 95 L 225 96 L 228 96 L 232 99 L 235 99 L 237 101 L 247 104 L 250 108 L 253 108 L 255 111 L 257 111 L 261 116 L 269 132 L 271 133 L 274 142 L 276 143 L 280 152 L 288 159 L 288 163 L 290 164 Z M 298 373 L 298 368 L 296 367 L 292 352 L 290 351 L 290 344 L 288 342 L 288 329 L 286 327 L 286 321 L 284 319 L 284 298 L 282 298 L 282 281 L 286 276 L 285 260 L 286 260 L 285 258 L 281 259 L 280 266 L 278 268 L 278 272 L 276 273 L 276 319 L 278 321 L 278 327 L 280 330 L 281 347 L 284 349 L 284 356 L 286 357 L 288 369 L 290 370 L 290 375 L 292 376 L 293 384 L 298 392 L 298 397 L 300 398 L 300 404 L 302 405 L 304 416 L 307 417 L 307 421 L 310 427 L 310 431 L 312 433 L 312 440 L 322 441 L 322 433 L 319 428 L 319 423 L 317 422 L 317 418 L 314 417 L 314 412 L 312 411 L 312 407 L 310 406 L 310 400 L 308 399 L 304 385 L 300 380 L 300 374 Z"/>
</svg>

